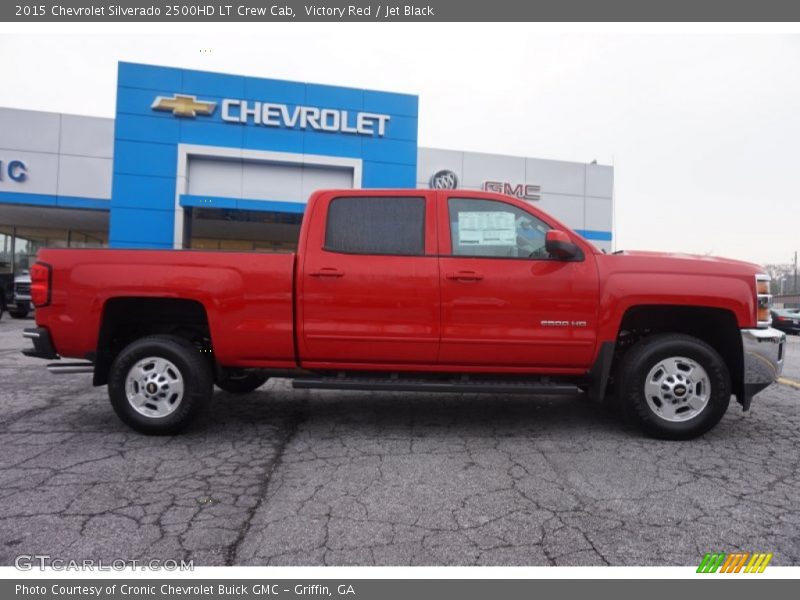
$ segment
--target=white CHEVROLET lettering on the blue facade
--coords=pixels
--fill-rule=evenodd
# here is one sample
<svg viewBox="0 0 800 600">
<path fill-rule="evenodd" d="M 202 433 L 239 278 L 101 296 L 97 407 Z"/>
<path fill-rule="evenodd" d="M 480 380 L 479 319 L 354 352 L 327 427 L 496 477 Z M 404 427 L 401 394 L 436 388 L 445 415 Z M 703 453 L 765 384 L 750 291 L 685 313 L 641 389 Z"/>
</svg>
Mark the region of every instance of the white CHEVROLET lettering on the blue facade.
<svg viewBox="0 0 800 600">
<path fill-rule="evenodd" d="M 317 129 L 339 133 L 383 137 L 389 115 L 366 112 L 350 112 L 334 108 L 293 106 L 253 102 L 248 100 L 222 101 L 222 120 L 229 123 L 254 123 L 267 127 L 289 129 Z"/>
</svg>

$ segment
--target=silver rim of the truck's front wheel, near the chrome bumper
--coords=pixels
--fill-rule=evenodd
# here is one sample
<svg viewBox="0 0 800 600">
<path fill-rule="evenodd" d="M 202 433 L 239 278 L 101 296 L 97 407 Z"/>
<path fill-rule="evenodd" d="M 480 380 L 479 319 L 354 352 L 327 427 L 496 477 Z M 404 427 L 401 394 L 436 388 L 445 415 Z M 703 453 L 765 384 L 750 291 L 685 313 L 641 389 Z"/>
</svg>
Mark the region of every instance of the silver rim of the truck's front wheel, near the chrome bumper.
<svg viewBox="0 0 800 600">
<path fill-rule="evenodd" d="M 672 356 L 650 369 L 644 382 L 644 395 L 647 406 L 656 416 L 680 423 L 705 410 L 711 398 L 711 382 L 697 361 Z"/>
</svg>

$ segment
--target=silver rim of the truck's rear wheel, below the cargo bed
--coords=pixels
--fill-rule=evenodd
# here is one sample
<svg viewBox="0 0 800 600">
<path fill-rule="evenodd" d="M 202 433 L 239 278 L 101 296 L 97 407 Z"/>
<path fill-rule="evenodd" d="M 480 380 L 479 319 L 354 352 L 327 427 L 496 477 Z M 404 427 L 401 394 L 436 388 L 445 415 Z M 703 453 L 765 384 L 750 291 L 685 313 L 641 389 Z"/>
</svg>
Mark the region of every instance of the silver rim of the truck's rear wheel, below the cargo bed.
<svg viewBox="0 0 800 600">
<path fill-rule="evenodd" d="M 131 407 L 145 417 L 171 415 L 183 400 L 183 376 L 166 358 L 143 358 L 128 371 L 125 394 Z"/>
</svg>

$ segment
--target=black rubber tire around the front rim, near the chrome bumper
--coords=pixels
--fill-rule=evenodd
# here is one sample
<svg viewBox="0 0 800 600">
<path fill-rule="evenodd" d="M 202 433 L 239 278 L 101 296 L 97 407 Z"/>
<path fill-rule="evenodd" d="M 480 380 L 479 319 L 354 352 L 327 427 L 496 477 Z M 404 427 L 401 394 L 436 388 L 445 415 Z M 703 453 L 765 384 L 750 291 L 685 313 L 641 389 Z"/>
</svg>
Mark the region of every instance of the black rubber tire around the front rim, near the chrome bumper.
<svg viewBox="0 0 800 600">
<path fill-rule="evenodd" d="M 708 376 L 708 400 L 698 414 L 685 421 L 659 416 L 645 394 L 651 369 L 671 357 L 685 357 L 699 364 Z M 650 436 L 665 440 L 689 440 L 719 423 L 731 400 L 731 383 L 725 361 L 704 341 L 683 334 L 658 334 L 645 338 L 623 357 L 617 370 L 618 403 L 625 420 Z M 688 410 L 688 409 L 687 409 Z"/>
</svg>

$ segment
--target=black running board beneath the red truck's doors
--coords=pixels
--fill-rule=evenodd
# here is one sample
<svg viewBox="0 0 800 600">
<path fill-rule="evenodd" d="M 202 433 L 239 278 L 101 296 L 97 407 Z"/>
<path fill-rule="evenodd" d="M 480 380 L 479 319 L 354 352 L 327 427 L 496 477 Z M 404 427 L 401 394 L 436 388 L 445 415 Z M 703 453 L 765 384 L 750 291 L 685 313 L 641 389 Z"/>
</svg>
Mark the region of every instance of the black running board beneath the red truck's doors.
<svg viewBox="0 0 800 600">
<path fill-rule="evenodd" d="M 470 381 L 468 379 L 427 380 L 389 378 L 318 377 L 299 378 L 292 387 L 319 390 L 358 390 L 374 392 L 450 392 L 466 394 L 542 394 L 568 395 L 581 390 L 577 385 L 546 381 Z"/>
</svg>

